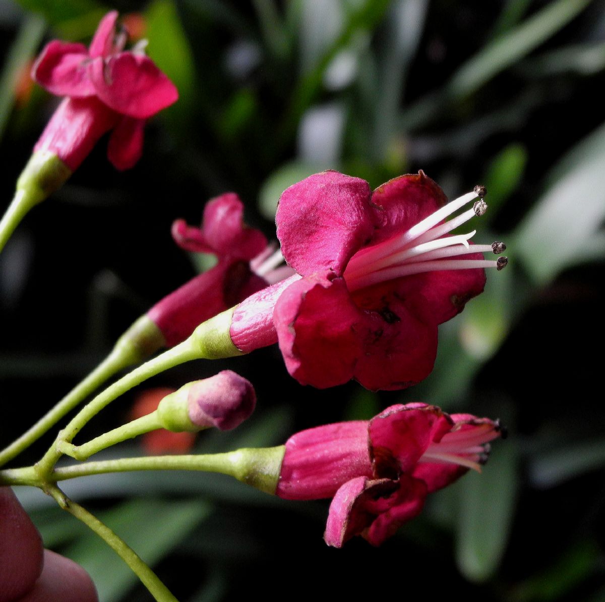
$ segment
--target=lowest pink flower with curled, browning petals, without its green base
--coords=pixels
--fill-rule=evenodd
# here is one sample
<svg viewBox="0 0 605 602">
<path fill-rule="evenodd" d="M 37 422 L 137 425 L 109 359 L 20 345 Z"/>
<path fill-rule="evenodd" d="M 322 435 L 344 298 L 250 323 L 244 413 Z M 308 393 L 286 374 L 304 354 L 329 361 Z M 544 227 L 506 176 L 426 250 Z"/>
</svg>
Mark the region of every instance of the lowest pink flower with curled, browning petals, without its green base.
<svg viewBox="0 0 605 602">
<path fill-rule="evenodd" d="M 480 471 L 500 424 L 408 403 L 371 420 L 319 426 L 290 437 L 276 495 L 332 497 L 325 541 L 362 535 L 378 546 L 422 510 L 427 494 L 469 468 Z"/>
</svg>

